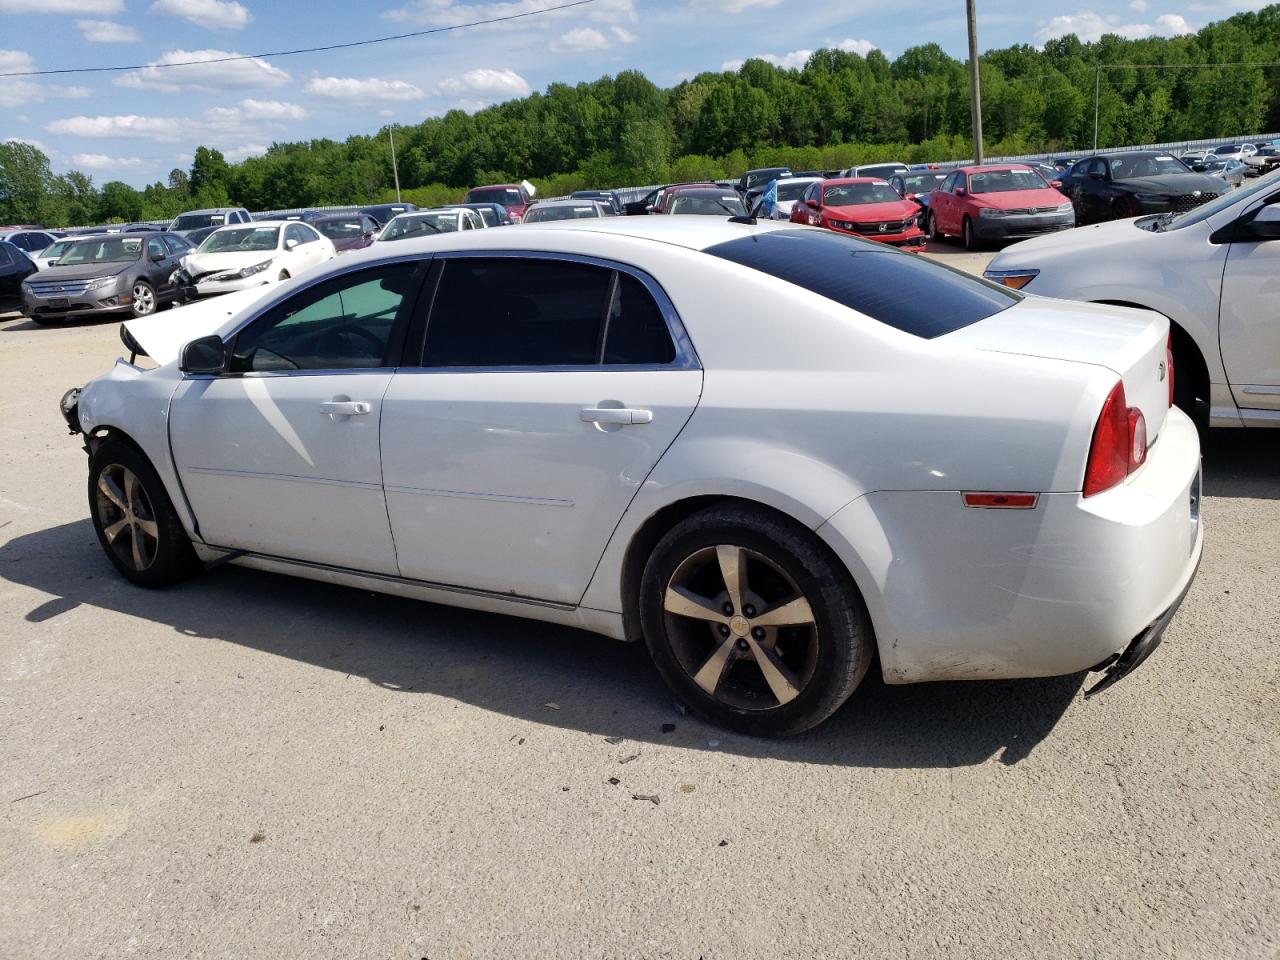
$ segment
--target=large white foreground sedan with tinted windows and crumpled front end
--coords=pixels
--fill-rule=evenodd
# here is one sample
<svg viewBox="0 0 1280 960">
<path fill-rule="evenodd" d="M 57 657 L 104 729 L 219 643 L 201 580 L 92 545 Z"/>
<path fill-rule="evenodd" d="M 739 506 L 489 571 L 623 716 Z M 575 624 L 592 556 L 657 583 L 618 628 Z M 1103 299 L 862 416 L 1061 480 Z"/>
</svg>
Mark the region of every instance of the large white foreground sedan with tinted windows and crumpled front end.
<svg viewBox="0 0 1280 960">
<path fill-rule="evenodd" d="M 1203 544 L 1167 321 L 829 230 L 411 238 L 125 326 L 159 366 L 63 411 L 128 580 L 229 561 L 643 639 L 750 733 L 819 723 L 877 654 L 1112 682 Z"/>
</svg>

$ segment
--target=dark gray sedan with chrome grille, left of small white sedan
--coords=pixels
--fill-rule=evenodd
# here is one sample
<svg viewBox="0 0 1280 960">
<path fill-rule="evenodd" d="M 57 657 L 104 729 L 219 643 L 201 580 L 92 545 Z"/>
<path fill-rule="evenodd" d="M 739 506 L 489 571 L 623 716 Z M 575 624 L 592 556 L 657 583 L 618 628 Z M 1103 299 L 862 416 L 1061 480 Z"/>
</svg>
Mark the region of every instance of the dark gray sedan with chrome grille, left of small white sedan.
<svg viewBox="0 0 1280 960">
<path fill-rule="evenodd" d="M 22 284 L 22 312 L 37 324 L 69 316 L 147 316 L 172 303 L 172 282 L 191 246 L 172 233 L 116 233 L 76 241 L 56 266 Z"/>
</svg>

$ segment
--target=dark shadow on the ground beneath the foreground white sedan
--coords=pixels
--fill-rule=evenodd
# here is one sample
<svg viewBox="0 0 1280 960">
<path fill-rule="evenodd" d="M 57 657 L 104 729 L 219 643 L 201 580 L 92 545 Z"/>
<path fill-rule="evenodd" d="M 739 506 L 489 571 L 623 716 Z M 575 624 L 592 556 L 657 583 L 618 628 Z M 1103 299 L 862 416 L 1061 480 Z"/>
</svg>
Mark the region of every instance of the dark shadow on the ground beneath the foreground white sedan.
<svg viewBox="0 0 1280 960">
<path fill-rule="evenodd" d="M 643 644 L 230 566 L 168 590 L 142 590 L 109 566 L 88 520 L 0 547 L 0 577 L 51 595 L 27 611 L 28 622 L 54 621 L 78 607 L 106 609 L 406 695 L 434 694 L 641 745 L 797 763 L 957 767 L 995 756 L 1012 764 L 1053 730 L 1083 680 L 887 686 L 873 664 L 831 721 L 796 739 L 768 741 L 681 716 Z M 664 733 L 669 723 L 676 728 Z"/>
</svg>

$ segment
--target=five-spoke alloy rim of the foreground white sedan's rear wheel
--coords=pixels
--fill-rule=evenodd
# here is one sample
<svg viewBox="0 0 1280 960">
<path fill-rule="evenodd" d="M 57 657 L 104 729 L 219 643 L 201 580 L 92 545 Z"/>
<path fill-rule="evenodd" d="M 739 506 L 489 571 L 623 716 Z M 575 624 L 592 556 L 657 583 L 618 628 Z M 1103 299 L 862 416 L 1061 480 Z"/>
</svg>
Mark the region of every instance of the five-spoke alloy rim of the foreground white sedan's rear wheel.
<svg viewBox="0 0 1280 960">
<path fill-rule="evenodd" d="M 818 625 L 796 582 L 768 557 L 732 544 L 681 562 L 663 593 L 671 650 L 716 700 L 782 707 L 813 680 Z"/>
</svg>

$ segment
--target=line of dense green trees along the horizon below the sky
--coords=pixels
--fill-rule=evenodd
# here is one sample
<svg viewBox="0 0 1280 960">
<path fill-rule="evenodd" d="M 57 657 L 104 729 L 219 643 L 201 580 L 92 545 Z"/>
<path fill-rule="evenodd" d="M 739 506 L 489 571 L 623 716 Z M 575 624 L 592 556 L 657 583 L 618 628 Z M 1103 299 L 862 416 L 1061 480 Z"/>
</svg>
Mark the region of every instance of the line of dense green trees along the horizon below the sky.
<svg viewBox="0 0 1280 960">
<path fill-rule="evenodd" d="M 1094 44 L 1075 36 L 980 58 L 991 155 L 1075 151 L 1280 128 L 1280 5 L 1174 38 Z M 1153 64 L 1170 69 L 1133 69 Z M 1231 64 L 1220 67 L 1216 64 Z M 404 197 L 452 202 L 476 183 L 531 179 L 544 195 L 586 187 L 736 177 L 750 166 L 837 168 L 969 156 L 966 65 L 937 44 L 895 60 L 818 50 L 801 69 L 748 60 L 663 90 L 625 70 L 467 114 L 396 128 Z M 253 210 L 393 197 L 384 128 L 346 141 L 274 143 L 229 164 L 198 147 L 189 170 L 136 189 L 54 175 L 35 147 L 0 145 L 0 223 L 165 219 L 196 206 Z"/>
</svg>

